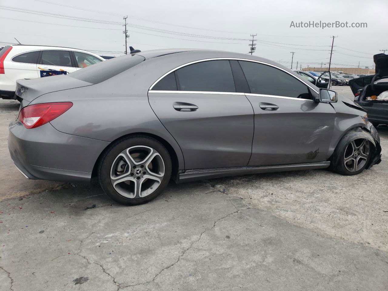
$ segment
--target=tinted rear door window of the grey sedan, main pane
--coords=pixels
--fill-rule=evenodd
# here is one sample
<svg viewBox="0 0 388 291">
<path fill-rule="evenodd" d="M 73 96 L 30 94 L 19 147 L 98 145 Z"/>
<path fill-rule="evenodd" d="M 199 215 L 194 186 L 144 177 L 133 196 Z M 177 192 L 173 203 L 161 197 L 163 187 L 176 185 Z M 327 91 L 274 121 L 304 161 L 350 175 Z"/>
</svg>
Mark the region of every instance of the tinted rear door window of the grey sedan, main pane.
<svg viewBox="0 0 388 291">
<path fill-rule="evenodd" d="M 181 91 L 236 92 L 228 60 L 199 62 L 175 74 Z"/>
</svg>

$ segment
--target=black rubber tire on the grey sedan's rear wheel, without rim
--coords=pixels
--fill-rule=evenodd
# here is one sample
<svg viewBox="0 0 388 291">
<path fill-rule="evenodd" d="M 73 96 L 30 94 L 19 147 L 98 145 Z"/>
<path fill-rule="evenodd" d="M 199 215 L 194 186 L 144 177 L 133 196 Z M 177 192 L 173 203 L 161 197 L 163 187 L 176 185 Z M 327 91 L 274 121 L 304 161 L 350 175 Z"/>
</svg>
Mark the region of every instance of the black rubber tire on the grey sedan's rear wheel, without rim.
<svg viewBox="0 0 388 291">
<path fill-rule="evenodd" d="M 113 187 L 113 184 L 111 182 L 111 167 L 113 167 L 112 165 L 114 161 L 121 152 L 125 151 L 130 147 L 140 145 L 151 147 L 160 154 L 164 163 L 164 176 L 163 178 L 161 178 L 161 183 L 158 185 L 158 188 L 148 196 L 128 198 L 121 195 Z M 104 192 L 114 201 L 124 205 L 139 205 L 147 203 L 152 199 L 155 199 L 166 188 L 168 182 L 170 181 L 171 170 L 172 165 L 170 154 L 168 153 L 167 149 L 163 144 L 161 144 L 158 140 L 152 137 L 148 137 L 145 135 L 134 135 L 117 140 L 107 149 L 107 151 L 104 153 L 100 160 L 98 178 Z"/>
</svg>

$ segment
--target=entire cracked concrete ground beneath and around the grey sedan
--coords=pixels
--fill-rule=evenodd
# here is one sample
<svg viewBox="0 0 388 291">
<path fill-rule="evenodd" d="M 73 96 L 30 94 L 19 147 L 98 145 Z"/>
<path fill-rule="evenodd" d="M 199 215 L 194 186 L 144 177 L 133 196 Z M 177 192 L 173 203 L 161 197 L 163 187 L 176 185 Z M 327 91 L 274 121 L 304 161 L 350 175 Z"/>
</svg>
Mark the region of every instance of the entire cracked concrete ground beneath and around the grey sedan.
<svg viewBox="0 0 388 291">
<path fill-rule="evenodd" d="M 125 207 L 99 187 L 25 180 L 6 147 L 15 110 L 0 101 L 0 291 L 387 289 L 386 127 L 383 162 L 358 176 L 169 184 Z"/>
</svg>

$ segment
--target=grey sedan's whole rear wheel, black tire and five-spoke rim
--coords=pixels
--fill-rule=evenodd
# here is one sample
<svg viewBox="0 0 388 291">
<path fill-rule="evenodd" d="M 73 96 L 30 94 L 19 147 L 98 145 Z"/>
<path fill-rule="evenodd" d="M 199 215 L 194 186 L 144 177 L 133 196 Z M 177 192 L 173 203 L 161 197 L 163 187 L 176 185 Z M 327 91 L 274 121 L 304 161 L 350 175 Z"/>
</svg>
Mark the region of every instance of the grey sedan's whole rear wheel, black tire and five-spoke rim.
<svg viewBox="0 0 388 291">
<path fill-rule="evenodd" d="M 166 148 L 151 137 L 135 136 L 115 142 L 102 157 L 99 181 L 118 203 L 138 205 L 156 198 L 171 177 Z"/>
</svg>

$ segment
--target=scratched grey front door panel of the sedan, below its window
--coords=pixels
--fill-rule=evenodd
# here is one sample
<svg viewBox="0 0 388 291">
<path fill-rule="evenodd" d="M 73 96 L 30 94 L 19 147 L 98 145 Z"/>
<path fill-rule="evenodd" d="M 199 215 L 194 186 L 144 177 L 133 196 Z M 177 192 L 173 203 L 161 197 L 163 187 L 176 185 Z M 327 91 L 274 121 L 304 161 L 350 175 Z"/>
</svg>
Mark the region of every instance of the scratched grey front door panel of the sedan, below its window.
<svg viewBox="0 0 388 291">
<path fill-rule="evenodd" d="M 334 130 L 330 104 L 310 100 L 247 95 L 255 114 L 250 166 L 326 161 Z M 274 104 L 263 110 L 260 104 Z"/>
</svg>

